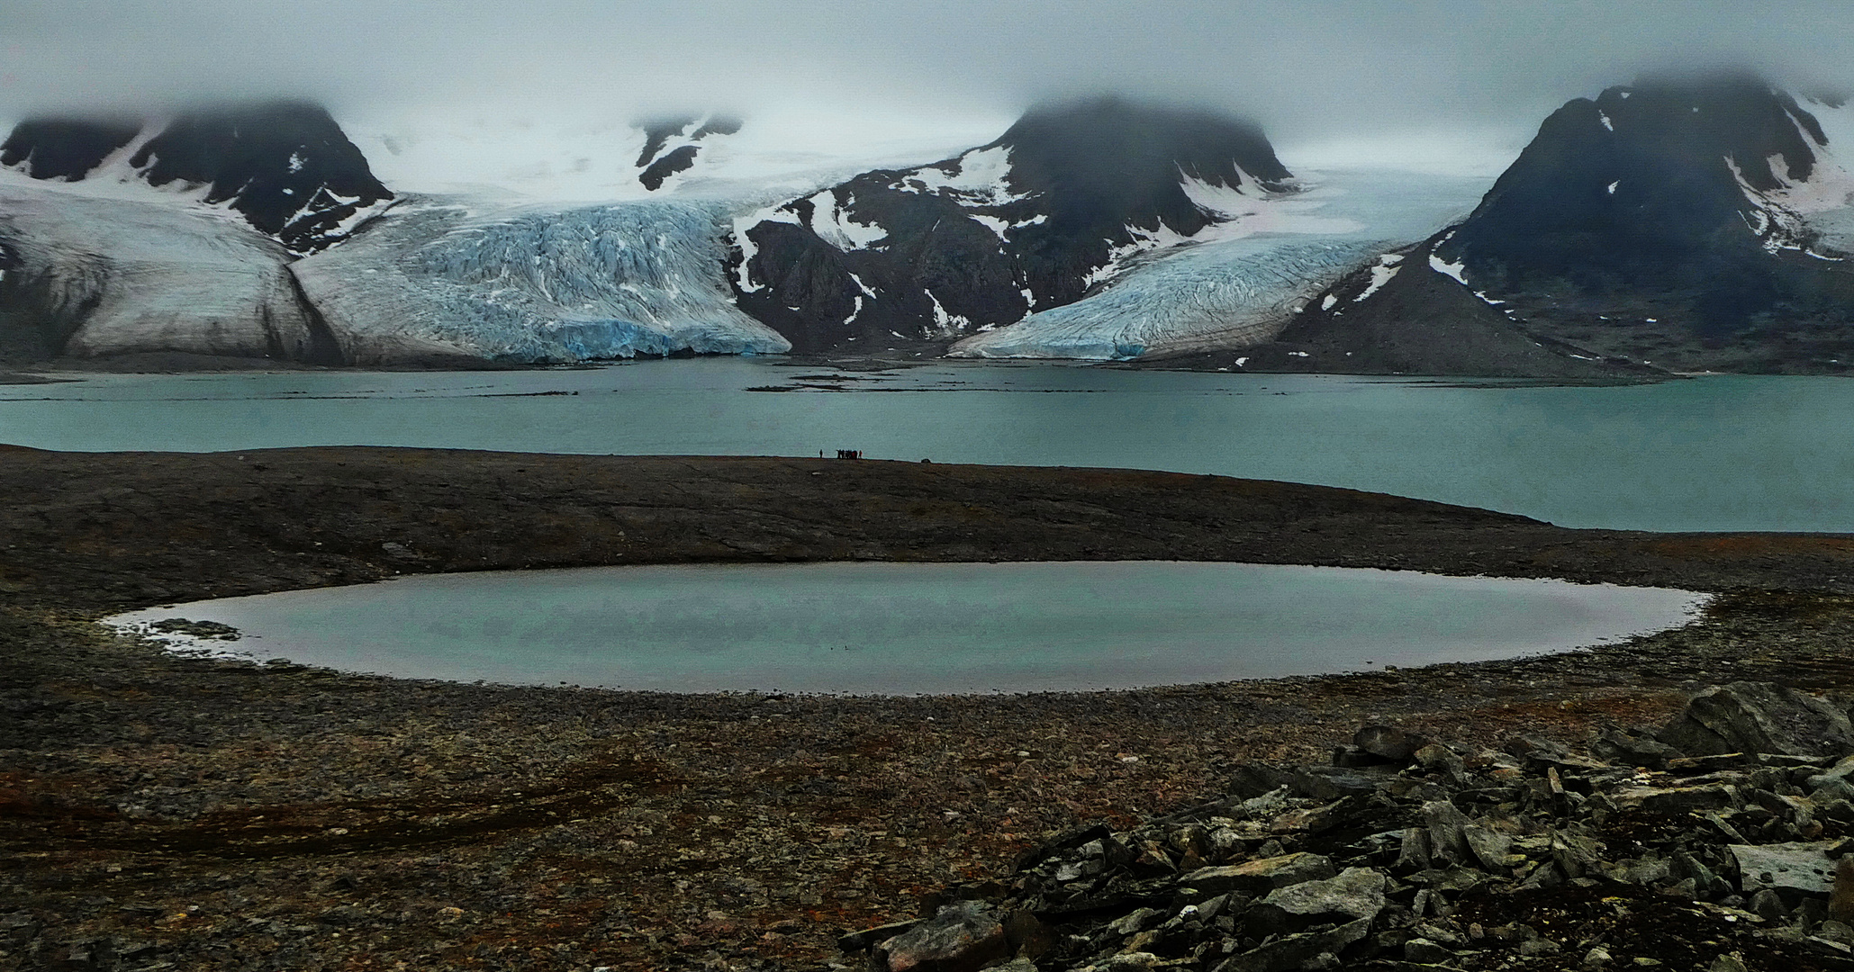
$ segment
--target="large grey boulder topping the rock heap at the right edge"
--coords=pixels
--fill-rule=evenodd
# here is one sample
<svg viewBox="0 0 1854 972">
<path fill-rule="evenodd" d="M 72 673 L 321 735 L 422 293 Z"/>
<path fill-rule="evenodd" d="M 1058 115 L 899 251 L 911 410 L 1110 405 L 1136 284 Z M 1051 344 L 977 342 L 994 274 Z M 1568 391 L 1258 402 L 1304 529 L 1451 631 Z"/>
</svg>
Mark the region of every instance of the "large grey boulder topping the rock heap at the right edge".
<svg viewBox="0 0 1854 972">
<path fill-rule="evenodd" d="M 1822 698 L 1769 681 L 1706 689 L 1656 735 L 1695 755 L 1843 755 L 1854 750 L 1854 724 L 1847 713 Z"/>
</svg>

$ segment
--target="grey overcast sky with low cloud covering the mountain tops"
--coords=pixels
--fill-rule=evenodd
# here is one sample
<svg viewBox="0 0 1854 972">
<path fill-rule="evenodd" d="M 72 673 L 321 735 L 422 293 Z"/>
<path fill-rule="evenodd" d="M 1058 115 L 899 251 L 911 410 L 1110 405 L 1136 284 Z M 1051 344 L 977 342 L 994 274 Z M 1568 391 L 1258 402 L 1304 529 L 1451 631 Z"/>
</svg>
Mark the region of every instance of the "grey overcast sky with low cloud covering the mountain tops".
<svg viewBox="0 0 1854 972">
<path fill-rule="evenodd" d="M 1144 93 L 1277 144 L 1498 146 L 1643 69 L 1745 63 L 1848 87 L 1847 0 L 6 0 L 0 118 L 293 93 L 341 118 L 814 106 L 1009 117 Z"/>
</svg>

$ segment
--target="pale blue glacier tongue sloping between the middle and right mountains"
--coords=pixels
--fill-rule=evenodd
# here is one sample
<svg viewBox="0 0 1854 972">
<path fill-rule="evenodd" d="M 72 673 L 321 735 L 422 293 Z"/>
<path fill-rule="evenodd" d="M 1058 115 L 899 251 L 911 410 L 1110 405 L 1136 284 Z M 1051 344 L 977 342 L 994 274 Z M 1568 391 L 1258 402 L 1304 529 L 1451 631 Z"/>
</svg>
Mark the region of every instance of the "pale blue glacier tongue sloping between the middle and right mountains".
<svg viewBox="0 0 1854 972">
<path fill-rule="evenodd" d="M 953 344 L 953 357 L 1125 361 L 1274 339 L 1361 261 L 1461 220 L 1492 176 L 1327 170 L 1298 193 L 1198 191 L 1222 222 L 1096 270 L 1081 300 Z M 1187 187 L 1196 189 L 1196 187 Z"/>
</svg>

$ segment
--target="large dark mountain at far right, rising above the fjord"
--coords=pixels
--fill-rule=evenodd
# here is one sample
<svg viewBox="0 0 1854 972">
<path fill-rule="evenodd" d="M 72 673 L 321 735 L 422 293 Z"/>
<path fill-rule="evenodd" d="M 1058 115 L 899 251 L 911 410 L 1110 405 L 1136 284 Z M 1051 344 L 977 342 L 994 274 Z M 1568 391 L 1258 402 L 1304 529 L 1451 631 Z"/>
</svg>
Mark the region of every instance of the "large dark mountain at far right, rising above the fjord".
<svg viewBox="0 0 1854 972">
<path fill-rule="evenodd" d="M 1368 305 L 1350 304 L 1361 268 L 1281 341 L 1442 374 L 1496 333 L 1581 355 L 1554 368 L 1847 370 L 1854 181 L 1817 118 L 1837 107 L 1804 107 L 1746 74 L 1650 78 L 1572 100 Z"/>
</svg>

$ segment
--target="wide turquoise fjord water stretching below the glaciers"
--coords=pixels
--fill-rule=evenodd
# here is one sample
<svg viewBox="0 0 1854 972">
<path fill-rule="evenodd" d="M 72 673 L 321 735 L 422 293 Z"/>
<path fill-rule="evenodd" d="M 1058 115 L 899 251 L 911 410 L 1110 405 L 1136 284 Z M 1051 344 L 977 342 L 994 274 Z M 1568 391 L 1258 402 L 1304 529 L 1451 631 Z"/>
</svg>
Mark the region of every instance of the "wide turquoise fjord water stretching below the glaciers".
<svg viewBox="0 0 1854 972">
<path fill-rule="evenodd" d="M 1563 526 L 1854 531 L 1854 381 L 1524 387 L 779 359 L 538 372 L 91 376 L 0 387 L 0 442 L 393 444 L 1137 467 L 1342 485 Z M 844 393 L 818 391 L 838 385 Z M 764 393 L 753 387 L 801 387 Z"/>
</svg>

